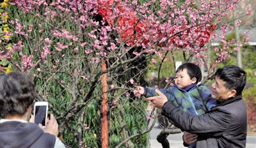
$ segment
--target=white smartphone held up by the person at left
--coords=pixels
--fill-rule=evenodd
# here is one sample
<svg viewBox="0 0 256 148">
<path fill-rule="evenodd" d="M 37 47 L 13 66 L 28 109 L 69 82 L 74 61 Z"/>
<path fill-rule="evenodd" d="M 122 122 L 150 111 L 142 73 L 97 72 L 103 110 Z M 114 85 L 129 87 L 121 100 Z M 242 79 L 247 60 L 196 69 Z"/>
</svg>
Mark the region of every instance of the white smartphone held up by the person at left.
<svg viewBox="0 0 256 148">
<path fill-rule="evenodd" d="M 34 106 L 34 122 L 36 124 L 41 123 L 43 127 L 46 125 L 48 115 L 48 102 L 47 101 L 36 101 Z"/>
</svg>

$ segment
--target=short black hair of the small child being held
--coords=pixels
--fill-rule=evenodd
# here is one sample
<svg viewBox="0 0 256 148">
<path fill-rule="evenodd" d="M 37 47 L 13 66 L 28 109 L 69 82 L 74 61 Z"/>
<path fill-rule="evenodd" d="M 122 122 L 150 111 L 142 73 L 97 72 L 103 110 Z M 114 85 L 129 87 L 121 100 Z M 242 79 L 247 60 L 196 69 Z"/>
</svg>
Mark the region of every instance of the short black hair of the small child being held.
<svg viewBox="0 0 256 148">
<path fill-rule="evenodd" d="M 176 73 L 179 71 L 183 71 L 184 69 L 187 69 L 188 75 L 190 78 L 196 78 L 196 83 L 200 82 L 202 80 L 202 72 L 199 66 L 193 63 L 184 63 L 179 66 L 179 68 L 176 70 Z"/>
</svg>

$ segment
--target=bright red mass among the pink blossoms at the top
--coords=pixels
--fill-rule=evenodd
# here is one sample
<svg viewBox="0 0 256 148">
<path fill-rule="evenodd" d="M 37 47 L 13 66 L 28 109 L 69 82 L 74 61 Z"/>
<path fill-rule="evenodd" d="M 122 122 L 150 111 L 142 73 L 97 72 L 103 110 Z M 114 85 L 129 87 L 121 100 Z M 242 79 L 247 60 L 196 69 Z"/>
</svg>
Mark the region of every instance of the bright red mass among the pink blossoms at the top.
<svg viewBox="0 0 256 148">
<path fill-rule="evenodd" d="M 113 26 L 115 24 L 113 19 L 113 0 L 100 2 L 99 4 L 99 10 L 98 13 L 102 18 L 104 18 L 109 25 Z M 127 6 L 128 7 L 128 6 Z M 120 13 L 124 13 L 126 9 L 129 9 L 125 6 L 120 6 L 120 4 L 115 4 L 116 10 L 118 10 Z M 116 12 L 115 12 L 116 13 Z M 191 32 L 192 29 L 195 29 L 195 33 L 198 33 L 198 37 L 195 39 L 195 41 L 198 41 L 198 46 L 203 47 L 205 43 L 209 41 L 210 36 L 213 34 L 214 29 L 216 28 L 216 24 L 207 24 L 205 26 L 196 26 L 190 27 L 189 25 L 183 24 L 182 27 L 180 27 L 180 33 L 181 35 L 173 35 L 175 34 L 175 28 L 176 26 L 172 26 L 170 28 L 169 33 L 163 33 L 161 32 L 161 24 L 148 24 L 148 22 L 145 22 L 143 20 L 140 20 L 136 13 L 132 10 L 129 11 L 129 14 L 127 15 L 119 15 L 117 17 L 117 24 L 118 32 L 120 33 L 120 36 L 123 41 L 127 43 L 127 45 L 134 45 L 136 42 L 147 44 L 149 43 L 148 38 L 145 38 L 148 33 L 148 26 L 156 26 L 154 29 L 156 29 L 157 36 L 161 36 L 163 39 L 160 42 L 164 42 L 164 39 L 168 39 L 167 43 L 160 43 L 162 47 L 165 47 L 166 44 L 172 43 L 175 47 L 184 48 L 188 45 L 193 47 L 194 45 L 189 43 L 187 40 L 188 34 Z M 164 37 L 166 36 L 166 37 Z"/>
</svg>

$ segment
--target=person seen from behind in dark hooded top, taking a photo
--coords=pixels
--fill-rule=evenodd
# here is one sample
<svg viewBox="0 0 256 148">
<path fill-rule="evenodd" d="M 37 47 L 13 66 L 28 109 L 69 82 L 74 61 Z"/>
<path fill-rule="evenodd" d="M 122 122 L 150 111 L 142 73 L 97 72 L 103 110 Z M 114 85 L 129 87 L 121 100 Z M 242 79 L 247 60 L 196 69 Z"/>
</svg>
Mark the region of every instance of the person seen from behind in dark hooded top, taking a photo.
<svg viewBox="0 0 256 148">
<path fill-rule="evenodd" d="M 45 128 L 33 123 L 33 116 L 28 122 L 35 97 L 35 84 L 25 73 L 0 75 L 0 147 L 65 147 L 54 115 Z"/>
</svg>

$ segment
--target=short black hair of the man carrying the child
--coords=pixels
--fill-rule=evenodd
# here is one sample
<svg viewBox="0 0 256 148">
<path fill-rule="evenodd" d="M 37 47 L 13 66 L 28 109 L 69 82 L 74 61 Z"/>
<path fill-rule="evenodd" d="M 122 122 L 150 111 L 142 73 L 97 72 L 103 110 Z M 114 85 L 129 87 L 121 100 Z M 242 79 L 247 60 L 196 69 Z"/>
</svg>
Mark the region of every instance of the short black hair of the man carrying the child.
<svg viewBox="0 0 256 148">
<path fill-rule="evenodd" d="M 242 93 L 246 84 L 246 72 L 238 66 L 229 65 L 219 68 L 215 76 L 225 81 L 227 89 L 235 89 L 237 95 Z"/>
</svg>

